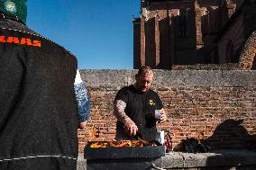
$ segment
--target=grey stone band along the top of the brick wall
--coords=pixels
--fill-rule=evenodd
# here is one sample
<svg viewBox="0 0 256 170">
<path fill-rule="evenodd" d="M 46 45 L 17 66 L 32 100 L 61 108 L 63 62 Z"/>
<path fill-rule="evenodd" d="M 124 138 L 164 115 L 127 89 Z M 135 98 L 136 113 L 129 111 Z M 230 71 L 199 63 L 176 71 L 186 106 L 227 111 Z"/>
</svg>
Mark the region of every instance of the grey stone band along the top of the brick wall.
<svg viewBox="0 0 256 170">
<path fill-rule="evenodd" d="M 119 89 L 134 84 L 137 70 L 87 69 L 80 70 L 88 87 Z M 256 86 L 256 70 L 154 70 L 154 87 L 224 87 Z"/>
</svg>

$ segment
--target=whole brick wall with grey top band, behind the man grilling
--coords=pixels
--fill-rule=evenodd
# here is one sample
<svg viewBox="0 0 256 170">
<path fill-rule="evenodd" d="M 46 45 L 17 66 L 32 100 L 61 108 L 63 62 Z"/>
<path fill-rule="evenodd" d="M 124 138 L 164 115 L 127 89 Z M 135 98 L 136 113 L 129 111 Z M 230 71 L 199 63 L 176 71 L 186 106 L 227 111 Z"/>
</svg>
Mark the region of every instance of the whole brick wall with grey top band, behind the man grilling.
<svg viewBox="0 0 256 170">
<path fill-rule="evenodd" d="M 174 148 L 181 140 L 203 133 L 213 148 L 251 148 L 256 138 L 256 72 L 224 70 L 154 70 L 154 89 L 160 94 Z M 112 140 L 113 101 L 117 90 L 132 85 L 135 70 L 82 70 L 91 100 L 86 130 L 78 130 L 79 151 L 87 140 Z M 89 130 L 99 129 L 90 139 Z M 255 146 L 254 146 L 255 147 Z"/>
</svg>

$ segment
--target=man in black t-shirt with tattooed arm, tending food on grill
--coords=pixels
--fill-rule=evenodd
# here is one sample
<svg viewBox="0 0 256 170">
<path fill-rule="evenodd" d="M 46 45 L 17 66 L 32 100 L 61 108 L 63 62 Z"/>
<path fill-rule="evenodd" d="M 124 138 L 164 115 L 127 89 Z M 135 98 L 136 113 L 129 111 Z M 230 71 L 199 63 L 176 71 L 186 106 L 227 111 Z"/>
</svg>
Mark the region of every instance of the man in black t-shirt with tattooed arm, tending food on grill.
<svg viewBox="0 0 256 170">
<path fill-rule="evenodd" d="M 123 87 L 114 99 L 117 119 L 116 136 L 121 139 L 156 140 L 156 122 L 167 121 L 166 112 L 157 93 L 150 89 L 153 80 L 151 67 L 142 67 L 135 76 L 135 84 Z M 160 118 L 154 114 L 160 110 Z"/>
</svg>

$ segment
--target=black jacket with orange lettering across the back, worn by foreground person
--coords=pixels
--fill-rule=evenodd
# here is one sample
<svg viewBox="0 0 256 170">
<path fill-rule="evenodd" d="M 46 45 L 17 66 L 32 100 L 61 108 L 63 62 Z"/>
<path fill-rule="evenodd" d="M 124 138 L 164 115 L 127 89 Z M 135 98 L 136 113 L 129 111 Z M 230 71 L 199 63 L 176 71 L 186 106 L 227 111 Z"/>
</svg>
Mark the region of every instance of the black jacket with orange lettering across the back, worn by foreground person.
<svg viewBox="0 0 256 170">
<path fill-rule="evenodd" d="M 76 169 L 76 58 L 19 22 L 0 27 L 0 169 Z"/>
</svg>

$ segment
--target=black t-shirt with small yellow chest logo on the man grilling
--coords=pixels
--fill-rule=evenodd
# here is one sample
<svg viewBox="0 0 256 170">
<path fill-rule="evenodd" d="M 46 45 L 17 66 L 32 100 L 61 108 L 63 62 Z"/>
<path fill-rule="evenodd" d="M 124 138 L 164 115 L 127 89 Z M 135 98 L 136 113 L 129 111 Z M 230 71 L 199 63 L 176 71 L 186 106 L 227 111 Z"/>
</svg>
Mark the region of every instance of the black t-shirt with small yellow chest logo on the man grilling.
<svg viewBox="0 0 256 170">
<path fill-rule="evenodd" d="M 125 86 L 115 96 L 114 100 L 122 100 L 126 103 L 124 112 L 134 121 L 139 127 L 146 129 L 155 129 L 156 120 L 154 118 L 155 110 L 163 108 L 163 104 L 157 93 L 149 90 L 146 93 L 137 91 L 133 85 Z M 123 137 L 123 123 L 117 121 L 116 136 Z M 124 135 L 125 136 L 125 135 Z M 131 139 L 129 136 L 122 139 Z"/>
</svg>

